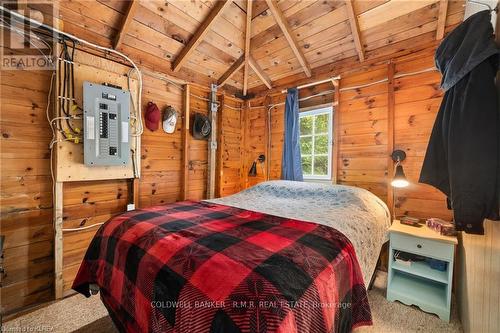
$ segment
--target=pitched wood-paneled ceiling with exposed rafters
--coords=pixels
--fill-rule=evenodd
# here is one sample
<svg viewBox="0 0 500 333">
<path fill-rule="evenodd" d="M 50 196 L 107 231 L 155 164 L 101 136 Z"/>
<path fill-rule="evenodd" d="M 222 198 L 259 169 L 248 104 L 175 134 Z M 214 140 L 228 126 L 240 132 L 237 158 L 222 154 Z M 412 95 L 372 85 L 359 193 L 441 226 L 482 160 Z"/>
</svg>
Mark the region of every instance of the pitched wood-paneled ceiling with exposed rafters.
<svg viewBox="0 0 500 333">
<path fill-rule="evenodd" d="M 403 41 L 441 39 L 464 14 L 464 0 L 249 1 L 57 3 L 69 33 L 116 46 L 161 72 L 241 90 L 271 87 L 346 58 L 362 62 L 385 49 L 396 52 Z"/>
</svg>

